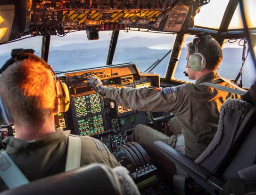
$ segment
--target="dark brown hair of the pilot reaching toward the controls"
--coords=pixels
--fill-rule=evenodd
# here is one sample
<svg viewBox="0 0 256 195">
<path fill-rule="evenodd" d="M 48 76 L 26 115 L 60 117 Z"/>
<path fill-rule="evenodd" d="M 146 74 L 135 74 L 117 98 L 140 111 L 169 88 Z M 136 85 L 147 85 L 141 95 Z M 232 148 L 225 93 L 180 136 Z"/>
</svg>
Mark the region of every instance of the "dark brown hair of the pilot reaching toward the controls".
<svg viewBox="0 0 256 195">
<path fill-rule="evenodd" d="M 197 42 L 198 51 L 196 49 Z M 195 38 L 193 42 L 189 43 L 187 46 L 189 56 L 198 52 L 205 57 L 205 69 L 207 70 L 216 70 L 223 59 L 220 44 L 209 35 Z"/>
</svg>

